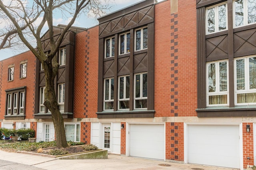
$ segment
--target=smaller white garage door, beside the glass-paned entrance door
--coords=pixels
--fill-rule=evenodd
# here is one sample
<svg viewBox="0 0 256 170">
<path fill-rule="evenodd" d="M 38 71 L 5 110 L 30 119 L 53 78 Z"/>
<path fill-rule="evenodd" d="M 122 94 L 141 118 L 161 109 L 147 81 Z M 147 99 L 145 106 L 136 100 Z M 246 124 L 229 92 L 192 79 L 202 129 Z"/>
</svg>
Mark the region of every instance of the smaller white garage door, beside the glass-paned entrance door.
<svg viewBox="0 0 256 170">
<path fill-rule="evenodd" d="M 165 158 L 164 125 L 130 125 L 130 156 Z"/>
</svg>

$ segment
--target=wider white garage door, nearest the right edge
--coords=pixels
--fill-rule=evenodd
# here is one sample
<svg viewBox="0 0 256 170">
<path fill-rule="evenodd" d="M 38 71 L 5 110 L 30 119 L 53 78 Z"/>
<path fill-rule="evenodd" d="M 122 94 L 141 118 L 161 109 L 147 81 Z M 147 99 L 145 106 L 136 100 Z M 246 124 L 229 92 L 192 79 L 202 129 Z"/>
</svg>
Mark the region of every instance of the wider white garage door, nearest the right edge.
<svg viewBox="0 0 256 170">
<path fill-rule="evenodd" d="M 188 163 L 240 168 L 238 125 L 188 125 Z"/>
</svg>

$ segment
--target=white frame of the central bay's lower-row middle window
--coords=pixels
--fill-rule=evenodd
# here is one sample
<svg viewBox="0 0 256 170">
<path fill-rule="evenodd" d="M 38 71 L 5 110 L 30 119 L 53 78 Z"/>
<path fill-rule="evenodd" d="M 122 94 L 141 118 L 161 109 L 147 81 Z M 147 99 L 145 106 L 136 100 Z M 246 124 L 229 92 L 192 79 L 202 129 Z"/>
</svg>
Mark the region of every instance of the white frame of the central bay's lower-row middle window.
<svg viewBox="0 0 256 170">
<path fill-rule="evenodd" d="M 126 81 L 126 78 L 129 77 L 129 98 L 126 98 L 126 89 L 127 89 L 127 81 Z M 124 78 L 124 91 L 123 91 L 123 98 L 121 99 L 120 98 L 120 78 Z M 128 104 L 128 108 L 125 108 L 125 109 L 120 109 L 120 101 L 129 101 L 129 104 Z M 127 110 L 127 109 L 130 109 L 130 75 L 125 75 L 125 76 L 119 76 L 118 77 L 118 110 Z"/>
</svg>

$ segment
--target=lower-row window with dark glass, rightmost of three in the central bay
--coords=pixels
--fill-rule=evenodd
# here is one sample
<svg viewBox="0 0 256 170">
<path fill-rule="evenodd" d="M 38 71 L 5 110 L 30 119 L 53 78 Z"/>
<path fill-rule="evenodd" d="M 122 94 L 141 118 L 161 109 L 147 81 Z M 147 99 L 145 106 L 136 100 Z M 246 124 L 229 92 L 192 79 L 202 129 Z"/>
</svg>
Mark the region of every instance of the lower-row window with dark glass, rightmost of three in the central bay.
<svg viewBox="0 0 256 170">
<path fill-rule="evenodd" d="M 134 108 L 147 108 L 148 74 L 140 73 L 134 76 Z"/>
</svg>

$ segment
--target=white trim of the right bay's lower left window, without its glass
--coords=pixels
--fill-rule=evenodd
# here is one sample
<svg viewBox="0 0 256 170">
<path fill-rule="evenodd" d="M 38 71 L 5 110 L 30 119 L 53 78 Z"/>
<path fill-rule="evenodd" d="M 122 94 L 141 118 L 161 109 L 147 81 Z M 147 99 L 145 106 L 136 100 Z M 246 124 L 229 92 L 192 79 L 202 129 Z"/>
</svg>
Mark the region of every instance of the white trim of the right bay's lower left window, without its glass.
<svg viewBox="0 0 256 170">
<path fill-rule="evenodd" d="M 220 92 L 220 76 L 219 76 L 219 63 L 221 62 L 227 62 L 227 91 Z M 216 90 L 215 92 L 209 92 L 209 81 L 208 81 L 208 64 L 215 63 L 215 71 L 216 71 Z M 219 60 L 214 62 L 206 63 L 206 106 L 229 106 L 229 72 L 228 72 L 228 60 Z M 215 95 L 227 95 L 228 96 L 228 102 L 227 104 L 211 104 L 209 105 L 209 96 L 215 96 Z"/>
</svg>

